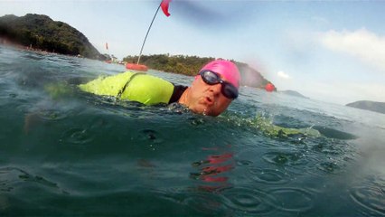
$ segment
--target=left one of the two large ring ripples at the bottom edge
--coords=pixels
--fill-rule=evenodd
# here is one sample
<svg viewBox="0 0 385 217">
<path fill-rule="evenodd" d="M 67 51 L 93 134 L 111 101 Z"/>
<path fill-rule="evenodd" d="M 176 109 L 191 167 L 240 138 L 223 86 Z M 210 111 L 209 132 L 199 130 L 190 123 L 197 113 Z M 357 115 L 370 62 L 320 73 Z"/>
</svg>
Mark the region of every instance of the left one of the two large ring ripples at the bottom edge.
<svg viewBox="0 0 385 217">
<path fill-rule="evenodd" d="M 273 212 L 277 199 L 273 194 L 255 188 L 236 187 L 223 192 L 225 205 L 242 214 L 267 214 Z"/>
</svg>

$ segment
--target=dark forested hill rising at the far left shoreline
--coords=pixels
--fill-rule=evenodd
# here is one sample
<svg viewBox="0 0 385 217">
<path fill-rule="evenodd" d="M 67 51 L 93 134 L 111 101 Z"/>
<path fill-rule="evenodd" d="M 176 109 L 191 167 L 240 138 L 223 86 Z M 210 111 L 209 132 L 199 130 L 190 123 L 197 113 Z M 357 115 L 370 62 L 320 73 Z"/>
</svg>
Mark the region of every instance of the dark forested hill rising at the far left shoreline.
<svg viewBox="0 0 385 217">
<path fill-rule="evenodd" d="M 0 37 L 46 52 L 99 59 L 100 53 L 84 34 L 69 24 L 52 21 L 49 16 L 26 14 L 0 17 Z"/>
</svg>

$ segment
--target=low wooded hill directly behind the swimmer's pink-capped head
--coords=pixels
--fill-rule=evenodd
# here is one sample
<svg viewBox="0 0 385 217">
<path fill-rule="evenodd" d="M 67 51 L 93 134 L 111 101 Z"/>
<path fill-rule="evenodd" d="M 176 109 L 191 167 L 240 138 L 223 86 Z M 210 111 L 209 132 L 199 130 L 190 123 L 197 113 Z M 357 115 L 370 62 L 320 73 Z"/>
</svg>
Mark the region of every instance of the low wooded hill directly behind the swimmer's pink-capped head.
<svg viewBox="0 0 385 217">
<path fill-rule="evenodd" d="M 127 56 L 123 61 L 136 63 L 138 56 Z M 159 71 L 169 71 L 178 74 L 196 75 L 202 66 L 209 61 L 215 60 L 213 57 L 197 57 L 186 55 L 155 54 L 142 55 L 140 63 L 147 67 Z M 248 64 L 233 61 L 237 64 L 242 80 L 242 86 L 264 89 L 270 81 L 266 80 L 259 71 L 249 67 Z"/>
</svg>

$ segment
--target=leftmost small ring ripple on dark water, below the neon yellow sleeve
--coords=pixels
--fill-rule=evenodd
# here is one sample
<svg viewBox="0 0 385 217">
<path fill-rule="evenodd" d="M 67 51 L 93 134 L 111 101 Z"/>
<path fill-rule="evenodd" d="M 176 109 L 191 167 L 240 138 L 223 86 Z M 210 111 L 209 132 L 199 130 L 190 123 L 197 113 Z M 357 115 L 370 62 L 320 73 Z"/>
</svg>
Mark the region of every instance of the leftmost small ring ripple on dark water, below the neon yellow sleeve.
<svg viewBox="0 0 385 217">
<path fill-rule="evenodd" d="M 61 141 L 74 145 L 86 145 L 93 140 L 93 134 L 89 133 L 87 129 L 78 127 L 70 128 L 61 135 Z"/>
</svg>

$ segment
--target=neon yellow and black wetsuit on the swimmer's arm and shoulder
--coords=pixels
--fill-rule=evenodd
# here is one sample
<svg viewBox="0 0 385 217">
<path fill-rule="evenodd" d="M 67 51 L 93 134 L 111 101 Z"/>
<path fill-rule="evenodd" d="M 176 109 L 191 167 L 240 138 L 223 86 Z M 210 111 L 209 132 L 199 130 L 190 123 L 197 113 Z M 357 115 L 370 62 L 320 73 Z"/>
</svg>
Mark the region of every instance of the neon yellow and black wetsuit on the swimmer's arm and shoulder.
<svg viewBox="0 0 385 217">
<path fill-rule="evenodd" d="M 127 71 L 79 85 L 80 90 L 102 96 L 138 101 L 146 105 L 177 101 L 186 87 L 146 73 Z"/>
</svg>

